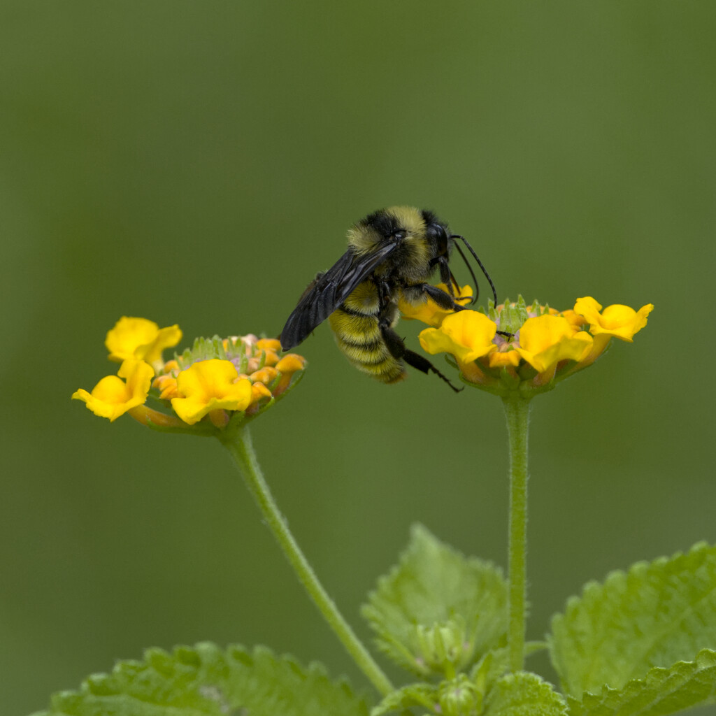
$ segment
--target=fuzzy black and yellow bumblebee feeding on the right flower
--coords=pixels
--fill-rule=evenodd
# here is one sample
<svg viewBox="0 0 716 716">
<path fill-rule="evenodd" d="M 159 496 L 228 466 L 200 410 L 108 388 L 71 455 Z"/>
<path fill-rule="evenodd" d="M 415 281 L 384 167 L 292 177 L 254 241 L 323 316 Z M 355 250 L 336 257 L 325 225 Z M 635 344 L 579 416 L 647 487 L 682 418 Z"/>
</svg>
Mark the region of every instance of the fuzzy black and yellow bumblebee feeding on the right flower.
<svg viewBox="0 0 716 716">
<path fill-rule="evenodd" d="M 432 211 L 392 206 L 369 214 L 349 229 L 348 250 L 304 291 L 281 331 L 281 347 L 297 346 L 327 318 L 339 349 L 362 372 L 384 383 L 396 383 L 407 376 L 407 363 L 437 374 L 455 392 L 462 390 L 429 360 L 408 349 L 395 332 L 401 298 L 417 305 L 429 296 L 442 309 L 463 310 L 455 303 L 453 287 L 458 282 L 448 263 L 453 246 L 468 265 L 475 283 L 473 300 L 477 299 L 475 274 L 456 239 L 472 253 L 497 303 L 492 279 L 463 236 L 450 233 L 448 224 Z M 447 292 L 427 283 L 436 268 Z"/>
</svg>

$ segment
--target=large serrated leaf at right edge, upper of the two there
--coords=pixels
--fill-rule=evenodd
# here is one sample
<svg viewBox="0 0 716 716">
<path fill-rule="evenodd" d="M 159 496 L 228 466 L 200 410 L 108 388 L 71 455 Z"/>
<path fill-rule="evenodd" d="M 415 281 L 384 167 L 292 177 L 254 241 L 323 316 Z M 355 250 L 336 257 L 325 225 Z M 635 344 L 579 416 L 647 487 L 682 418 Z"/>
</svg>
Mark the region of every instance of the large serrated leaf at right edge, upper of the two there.
<svg viewBox="0 0 716 716">
<path fill-rule="evenodd" d="M 716 648 L 716 548 L 698 544 L 587 584 L 553 617 L 549 645 L 563 690 L 577 699 Z"/>
</svg>

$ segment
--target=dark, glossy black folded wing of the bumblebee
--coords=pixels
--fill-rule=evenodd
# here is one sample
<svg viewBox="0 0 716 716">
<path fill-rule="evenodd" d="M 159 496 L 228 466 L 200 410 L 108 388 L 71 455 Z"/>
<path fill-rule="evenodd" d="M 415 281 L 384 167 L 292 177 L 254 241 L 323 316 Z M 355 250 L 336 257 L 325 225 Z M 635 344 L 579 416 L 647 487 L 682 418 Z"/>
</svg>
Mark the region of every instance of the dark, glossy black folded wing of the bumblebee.
<svg viewBox="0 0 716 716">
<path fill-rule="evenodd" d="M 281 347 L 287 351 L 304 341 L 308 334 L 326 320 L 356 286 L 385 261 L 395 243 L 384 243 L 371 253 L 357 256 L 349 248 L 324 274 L 316 276 L 301 296 L 298 306 L 281 331 Z"/>
</svg>

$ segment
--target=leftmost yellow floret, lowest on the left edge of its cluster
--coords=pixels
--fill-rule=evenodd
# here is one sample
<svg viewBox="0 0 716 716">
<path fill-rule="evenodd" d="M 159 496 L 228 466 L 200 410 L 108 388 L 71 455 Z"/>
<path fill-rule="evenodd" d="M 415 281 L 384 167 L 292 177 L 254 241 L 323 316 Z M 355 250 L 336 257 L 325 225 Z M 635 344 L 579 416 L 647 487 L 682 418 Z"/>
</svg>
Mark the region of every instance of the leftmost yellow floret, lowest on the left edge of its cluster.
<svg viewBox="0 0 716 716">
<path fill-rule="evenodd" d="M 95 415 L 117 420 L 127 410 L 144 405 L 154 370 L 143 360 L 130 359 L 122 362 L 117 375 L 102 378 L 89 393 L 80 388 L 72 393 L 77 400 L 84 400 Z M 123 381 L 122 378 L 125 378 Z"/>
</svg>

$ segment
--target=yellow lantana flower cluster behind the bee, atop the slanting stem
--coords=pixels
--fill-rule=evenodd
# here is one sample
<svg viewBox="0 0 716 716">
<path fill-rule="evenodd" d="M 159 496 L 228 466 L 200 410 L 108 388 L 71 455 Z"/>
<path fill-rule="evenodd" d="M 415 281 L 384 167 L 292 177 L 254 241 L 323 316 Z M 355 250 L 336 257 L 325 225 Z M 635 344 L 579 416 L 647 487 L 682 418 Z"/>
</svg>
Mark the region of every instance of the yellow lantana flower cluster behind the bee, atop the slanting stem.
<svg viewBox="0 0 716 716">
<path fill-rule="evenodd" d="M 236 412 L 255 417 L 273 405 L 306 367 L 297 354 L 281 356 L 277 339 L 253 334 L 197 339 L 191 349 L 164 362 L 164 349 L 181 337 L 178 326 L 160 328 L 147 319 L 123 316 L 105 341 L 110 359 L 122 362 L 117 375 L 102 378 L 92 392 L 80 389 L 72 397 L 110 421 L 127 412 L 150 427 L 185 432 L 196 426 L 190 432 L 213 434 Z M 173 414 L 148 407 L 148 400 Z"/>
</svg>

